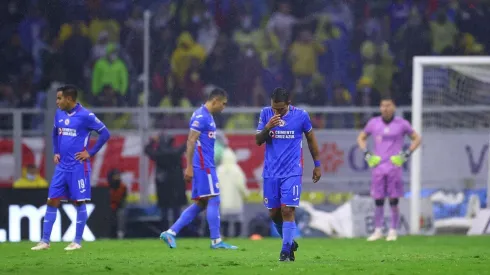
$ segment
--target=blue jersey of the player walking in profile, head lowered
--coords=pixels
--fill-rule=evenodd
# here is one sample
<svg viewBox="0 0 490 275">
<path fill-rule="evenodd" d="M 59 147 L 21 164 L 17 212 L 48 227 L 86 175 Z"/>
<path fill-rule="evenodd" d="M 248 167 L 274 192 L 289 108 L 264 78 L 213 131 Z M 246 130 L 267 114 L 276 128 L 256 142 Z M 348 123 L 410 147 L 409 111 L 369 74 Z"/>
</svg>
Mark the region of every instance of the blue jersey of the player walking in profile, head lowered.
<svg viewBox="0 0 490 275">
<path fill-rule="evenodd" d="M 201 106 L 191 117 L 189 127 L 192 131 L 199 132 L 192 166 L 194 168 L 213 168 L 214 164 L 214 142 L 216 141 L 216 124 L 213 115 Z"/>
</svg>

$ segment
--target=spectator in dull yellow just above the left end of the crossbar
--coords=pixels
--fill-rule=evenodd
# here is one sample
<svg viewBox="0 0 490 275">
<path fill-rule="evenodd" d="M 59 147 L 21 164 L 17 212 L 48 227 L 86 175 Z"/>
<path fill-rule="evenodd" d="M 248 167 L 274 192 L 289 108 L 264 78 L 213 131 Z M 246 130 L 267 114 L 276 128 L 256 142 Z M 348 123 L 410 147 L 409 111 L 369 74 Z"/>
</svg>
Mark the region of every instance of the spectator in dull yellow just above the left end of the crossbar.
<svg viewBox="0 0 490 275">
<path fill-rule="evenodd" d="M 454 38 L 458 29 L 453 22 L 449 21 L 444 11 L 439 11 L 436 21 L 430 22 L 432 33 L 432 51 L 436 54 L 442 53 L 446 48 L 454 46 Z"/>
</svg>

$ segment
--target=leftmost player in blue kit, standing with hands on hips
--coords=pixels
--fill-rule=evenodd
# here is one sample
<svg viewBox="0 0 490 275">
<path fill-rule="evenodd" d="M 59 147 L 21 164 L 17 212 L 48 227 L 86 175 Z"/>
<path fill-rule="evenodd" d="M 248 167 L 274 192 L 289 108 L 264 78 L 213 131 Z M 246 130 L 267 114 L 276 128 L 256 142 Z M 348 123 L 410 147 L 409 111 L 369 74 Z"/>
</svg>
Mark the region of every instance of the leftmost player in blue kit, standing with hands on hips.
<svg viewBox="0 0 490 275">
<path fill-rule="evenodd" d="M 94 156 L 109 140 L 110 133 L 94 115 L 77 103 L 78 89 L 67 85 L 58 89 L 54 117 L 53 153 L 56 169 L 48 191 L 44 216 L 43 236 L 32 250 L 49 248 L 51 230 L 62 200 L 74 203 L 77 209 L 75 239 L 65 250 L 82 248 L 83 230 L 87 223 L 86 201 L 90 196 L 90 157 Z M 97 143 L 87 148 L 90 133 L 99 134 Z"/>
</svg>

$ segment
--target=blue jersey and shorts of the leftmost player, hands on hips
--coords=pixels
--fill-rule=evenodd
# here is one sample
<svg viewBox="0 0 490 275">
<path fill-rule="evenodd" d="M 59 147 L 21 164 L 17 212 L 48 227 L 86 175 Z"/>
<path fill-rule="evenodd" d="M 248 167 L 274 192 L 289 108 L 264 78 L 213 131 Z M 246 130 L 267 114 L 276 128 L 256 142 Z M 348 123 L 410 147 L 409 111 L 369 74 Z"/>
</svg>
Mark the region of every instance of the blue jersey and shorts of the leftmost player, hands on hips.
<svg viewBox="0 0 490 275">
<path fill-rule="evenodd" d="M 89 149 L 87 146 L 92 131 L 101 135 L 97 144 Z M 80 104 L 70 112 L 56 111 L 53 147 L 60 160 L 49 186 L 49 199 L 90 200 L 90 160 L 76 160 L 76 154 L 87 150 L 93 156 L 109 136 L 105 125 Z"/>
</svg>

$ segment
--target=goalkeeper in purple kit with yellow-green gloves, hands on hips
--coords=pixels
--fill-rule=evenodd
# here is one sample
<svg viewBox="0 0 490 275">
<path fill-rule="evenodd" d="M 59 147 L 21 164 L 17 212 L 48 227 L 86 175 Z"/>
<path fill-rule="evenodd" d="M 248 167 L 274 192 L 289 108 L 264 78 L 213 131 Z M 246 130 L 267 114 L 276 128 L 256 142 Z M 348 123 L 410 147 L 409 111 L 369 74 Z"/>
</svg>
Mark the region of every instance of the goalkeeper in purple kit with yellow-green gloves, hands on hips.
<svg viewBox="0 0 490 275">
<path fill-rule="evenodd" d="M 398 200 L 403 197 L 402 166 L 417 147 L 420 136 L 412 129 L 408 121 L 395 116 L 395 103 L 384 98 L 380 103 L 381 116 L 371 118 L 357 137 L 357 144 L 364 152 L 364 158 L 372 168 L 371 197 L 375 202 L 375 230 L 368 241 L 383 238 L 384 203 L 389 198 L 391 206 L 391 225 L 387 241 L 397 239 L 400 222 Z M 367 148 L 366 140 L 373 136 L 374 150 Z M 405 136 L 412 140 L 408 150 L 403 151 Z"/>
</svg>

